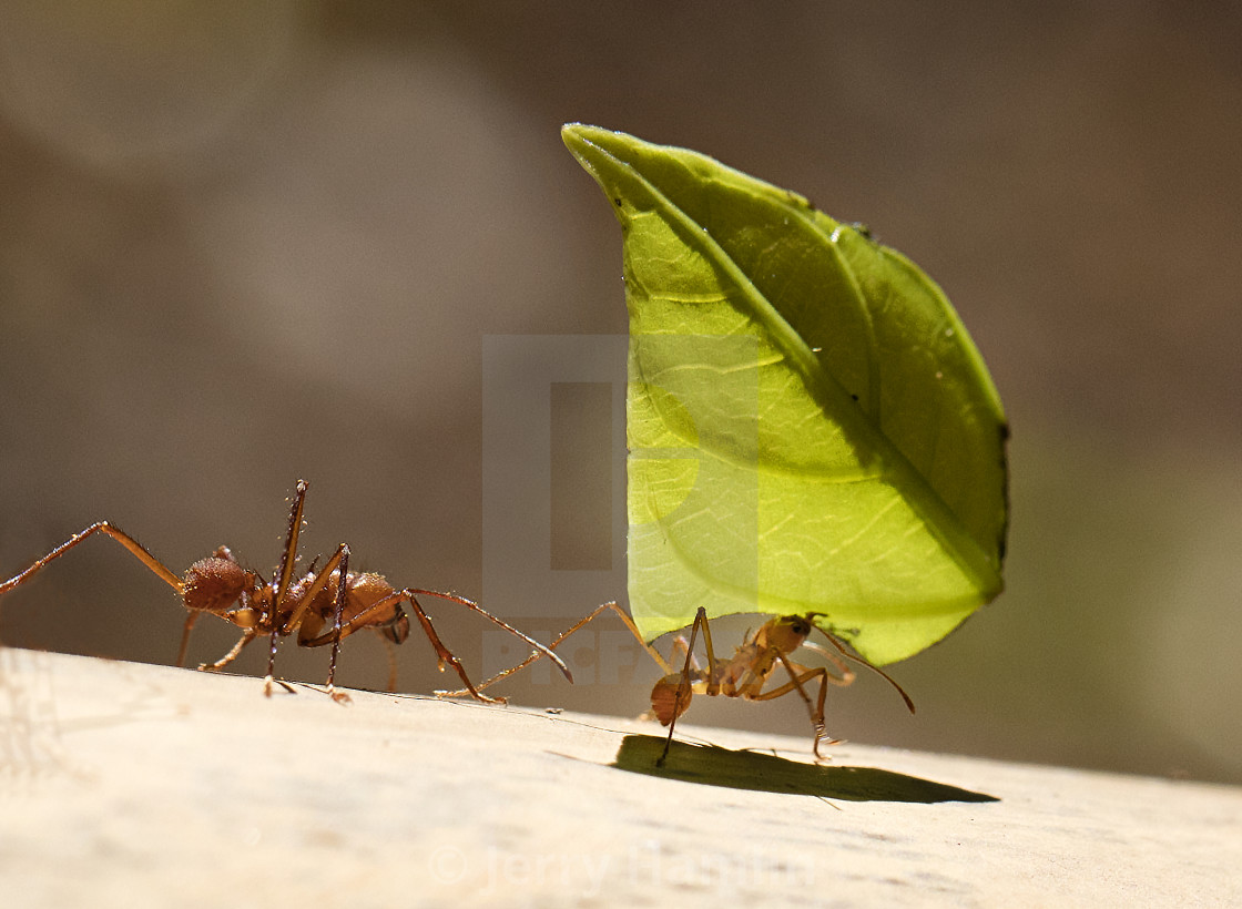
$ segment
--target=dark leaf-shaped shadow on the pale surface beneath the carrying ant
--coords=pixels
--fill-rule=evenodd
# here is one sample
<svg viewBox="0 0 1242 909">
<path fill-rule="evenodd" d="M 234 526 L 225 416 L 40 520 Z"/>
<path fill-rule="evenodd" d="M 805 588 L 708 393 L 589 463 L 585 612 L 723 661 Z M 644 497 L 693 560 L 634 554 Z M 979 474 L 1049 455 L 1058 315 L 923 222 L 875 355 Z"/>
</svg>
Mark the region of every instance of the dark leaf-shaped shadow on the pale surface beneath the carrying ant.
<svg viewBox="0 0 1242 909">
<path fill-rule="evenodd" d="M 704 786 L 749 789 L 761 792 L 823 796 L 854 802 L 996 802 L 995 796 L 971 792 L 943 782 L 922 780 L 878 767 L 842 767 L 802 764 L 759 751 L 732 751 L 718 745 L 673 741 L 664 766 L 656 760 L 664 749 L 663 736 L 627 735 L 610 765 L 631 774 Z"/>
</svg>

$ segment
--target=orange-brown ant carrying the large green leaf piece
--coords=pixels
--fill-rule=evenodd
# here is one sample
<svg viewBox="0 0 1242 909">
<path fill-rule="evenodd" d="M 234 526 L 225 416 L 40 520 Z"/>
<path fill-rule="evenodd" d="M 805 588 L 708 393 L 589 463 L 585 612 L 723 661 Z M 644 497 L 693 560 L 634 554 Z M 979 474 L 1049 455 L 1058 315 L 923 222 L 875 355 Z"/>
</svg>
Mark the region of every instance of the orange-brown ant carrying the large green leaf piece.
<svg viewBox="0 0 1242 909">
<path fill-rule="evenodd" d="M 727 698 L 741 698 L 744 700 L 771 700 L 789 694 L 790 692 L 797 692 L 799 697 L 802 698 L 802 702 L 806 704 L 806 708 L 811 714 L 811 725 L 815 728 L 815 739 L 811 750 L 815 753 L 816 760 L 823 760 L 823 756 L 820 754 L 820 743 L 826 741 L 828 745 L 835 745 L 838 741 L 837 739 L 828 740 L 825 729 L 823 702 L 827 695 L 827 687 L 830 683 L 835 685 L 848 685 L 854 681 L 854 672 L 846 663 L 845 658 L 853 659 L 854 662 L 883 676 L 888 683 L 897 689 L 898 694 L 902 695 L 902 699 L 905 702 L 910 713 L 914 713 L 914 702 L 910 700 L 910 697 L 905 693 L 905 690 L 897 684 L 897 682 L 887 672 L 877 666 L 872 666 L 857 653 L 851 653 L 836 637 L 830 635 L 823 628 L 820 628 L 820 626 L 814 621 L 818 615 L 815 612 L 770 618 L 754 635 L 748 633 L 741 646 L 734 651 L 732 657 L 728 659 L 718 659 L 715 651 L 712 647 L 712 630 L 708 626 L 707 610 L 699 606 L 698 612 L 694 615 L 694 625 L 691 628 L 689 642 L 687 642 L 684 637 L 678 637 L 673 642 L 674 654 L 682 649 L 686 652 L 686 663 L 678 672 L 673 671 L 669 661 L 666 661 L 662 656 L 660 656 L 660 651 L 643 641 L 642 635 L 638 632 L 638 627 L 633 623 L 633 620 L 630 618 L 625 610 L 615 602 L 606 602 L 602 606 L 599 606 L 589 616 L 579 620 L 576 623 L 566 628 L 559 637 L 556 637 L 555 641 L 548 644 L 548 649 L 555 651 L 561 643 L 564 643 L 565 638 L 607 610 L 612 610 L 617 613 L 638 643 L 642 644 L 642 648 L 651 656 L 652 659 L 656 661 L 664 673 L 663 678 L 656 682 L 655 688 L 651 689 L 652 714 L 655 714 L 656 719 L 660 720 L 661 725 L 668 726 L 668 739 L 664 741 L 664 750 L 656 761 L 656 766 L 663 766 L 664 759 L 668 756 L 668 749 L 673 744 L 673 728 L 677 724 L 677 718 L 689 709 L 691 699 L 694 694 L 707 694 L 709 697 L 724 695 Z M 699 628 L 703 630 L 703 644 L 707 649 L 707 669 L 700 669 L 693 656 L 694 641 L 698 637 Z M 828 643 L 836 648 L 837 653 L 833 653 L 812 641 L 807 641 L 812 628 L 818 628 L 820 632 L 827 638 Z M 828 669 L 822 666 L 817 668 L 809 668 L 791 661 L 789 654 L 799 647 L 814 649 L 823 656 L 832 664 L 836 674 L 828 672 Z M 539 659 L 542 656 L 543 653 L 532 653 L 517 666 L 497 673 L 479 684 L 478 689 L 482 690 L 493 682 L 499 682 L 505 676 L 518 672 Z M 773 688 L 771 690 L 763 690 L 768 679 L 771 678 L 774 672 L 776 672 L 777 666 L 784 667 L 786 673 L 789 673 L 789 682 Z M 812 703 L 811 695 L 807 694 L 806 689 L 816 679 L 820 682 L 820 690 Z M 466 690 L 447 692 L 450 695 L 462 695 L 466 693 Z"/>
</svg>

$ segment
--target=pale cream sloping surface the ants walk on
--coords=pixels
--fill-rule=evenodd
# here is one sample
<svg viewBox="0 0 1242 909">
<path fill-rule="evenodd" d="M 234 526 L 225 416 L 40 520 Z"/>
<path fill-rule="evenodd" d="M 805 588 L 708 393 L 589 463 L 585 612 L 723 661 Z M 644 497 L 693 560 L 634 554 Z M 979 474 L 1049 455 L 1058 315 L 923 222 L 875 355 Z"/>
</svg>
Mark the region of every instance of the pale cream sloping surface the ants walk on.
<svg viewBox="0 0 1242 909">
<path fill-rule="evenodd" d="M 0 721 L 6 907 L 1242 904 L 1232 787 L 19 649 Z"/>
</svg>

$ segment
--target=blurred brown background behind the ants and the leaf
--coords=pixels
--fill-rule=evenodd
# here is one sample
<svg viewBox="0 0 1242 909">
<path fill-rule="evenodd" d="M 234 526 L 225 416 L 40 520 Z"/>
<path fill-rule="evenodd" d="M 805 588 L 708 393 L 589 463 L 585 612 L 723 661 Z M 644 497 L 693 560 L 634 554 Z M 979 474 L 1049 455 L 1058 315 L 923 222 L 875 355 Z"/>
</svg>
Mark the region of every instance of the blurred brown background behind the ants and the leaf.
<svg viewBox="0 0 1242 909">
<path fill-rule="evenodd" d="M 864 221 L 1000 386 L 1009 590 L 893 668 L 917 717 L 867 678 L 831 693 L 830 731 L 1242 781 L 1238 10 L 5 4 L 0 576 L 101 518 L 176 571 L 221 543 L 270 571 L 301 476 L 308 555 L 347 540 L 544 633 L 622 596 L 621 565 L 573 604 L 482 580 L 483 337 L 626 330 L 620 231 L 558 133 L 585 120 Z M 553 450 L 585 467 L 555 482 L 590 484 L 606 446 L 573 440 L 611 417 L 568 391 Z M 571 513 L 558 546 L 596 568 L 609 522 Z M 433 615 L 483 661 L 474 617 Z M 170 662 L 181 616 L 101 540 L 6 597 L 0 632 Z M 655 667 L 617 628 L 574 654 L 606 683 L 507 693 L 640 713 Z M 201 622 L 191 661 L 233 637 Z M 281 672 L 322 681 L 327 652 L 296 649 Z M 405 690 L 445 683 L 421 638 L 402 651 Z M 383 649 L 349 642 L 340 672 L 383 685 Z M 792 698 L 691 718 L 810 741 Z"/>
</svg>

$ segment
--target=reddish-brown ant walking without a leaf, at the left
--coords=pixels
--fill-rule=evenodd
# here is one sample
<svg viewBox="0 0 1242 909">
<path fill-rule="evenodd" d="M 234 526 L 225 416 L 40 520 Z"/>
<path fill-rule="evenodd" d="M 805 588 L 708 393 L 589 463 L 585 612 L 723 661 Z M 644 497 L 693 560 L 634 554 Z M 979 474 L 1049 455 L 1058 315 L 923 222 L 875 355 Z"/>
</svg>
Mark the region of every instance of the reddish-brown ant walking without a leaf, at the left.
<svg viewBox="0 0 1242 909">
<path fill-rule="evenodd" d="M 302 512 L 308 486 L 304 479 L 298 481 L 293 508 L 289 510 L 289 529 L 284 539 L 284 553 L 271 581 L 263 580 L 256 571 L 242 568 L 227 546 L 220 546 L 206 559 L 194 563 L 186 570 L 184 577 L 178 577 L 133 536 L 124 533 L 120 528 L 101 520 L 71 536 L 21 574 L 0 584 L 0 596 L 25 584 L 47 563 L 65 555 L 65 553 L 73 549 L 88 536 L 104 534 L 128 549 L 143 565 L 173 587 L 181 597 L 181 604 L 188 610 L 188 615 L 185 617 L 185 628 L 181 633 L 181 646 L 176 654 L 178 666 L 185 663 L 185 651 L 190 641 L 190 630 L 199 620 L 199 616 L 204 613 L 219 616 L 226 622 L 232 622 L 242 630 L 242 636 L 229 653 L 214 663 L 200 664 L 199 669 L 206 672 L 222 669 L 233 662 L 242 648 L 251 641 L 268 636 L 271 638 L 271 649 L 267 658 L 267 676 L 263 678 L 263 693 L 267 695 L 271 695 L 272 683 L 276 681 L 277 642 L 294 631 L 298 633 L 298 646 L 301 647 L 332 644 L 332 658 L 328 664 L 328 693 L 337 702 L 349 700 L 349 695 L 344 692 L 338 692 L 334 684 L 337 654 L 340 651 L 340 642 L 363 628 L 371 628 L 378 632 L 389 649 L 389 690 L 392 690 L 396 687 L 396 668 L 391 658 L 391 648 L 392 644 L 399 644 L 410 636 L 410 620 L 406 617 L 405 610 L 401 608 L 402 601 L 409 601 L 415 617 L 422 626 L 422 631 L 436 649 L 436 661 L 440 669 L 443 671 L 445 664 L 451 666 L 458 677 L 461 677 L 462 684 L 466 685 L 466 688 L 461 692 L 455 692 L 455 694 L 469 694 L 487 703 L 504 703 L 503 698 L 489 698 L 482 694 L 471 683 L 461 661 L 440 640 L 440 636 L 431 625 L 431 618 L 427 617 L 427 613 L 419 604 L 417 596 L 435 596 L 441 600 L 450 600 L 478 612 L 488 621 L 530 644 L 534 648 L 530 661 L 535 657 L 549 657 L 556 663 L 565 678 L 573 682 L 569 667 L 551 649 L 501 621 L 472 600 L 457 596 L 456 594 L 421 590 L 419 587 L 396 590 L 381 575 L 350 571 L 349 545 L 345 543 L 337 546 L 335 554 L 324 563 L 322 569 L 317 571 L 314 564 L 312 564 L 306 575 L 294 580 L 293 572 L 297 561 L 298 535 L 302 533 Z M 324 630 L 325 625 L 328 625 L 327 631 Z M 284 682 L 279 684 L 288 688 Z"/>
</svg>

